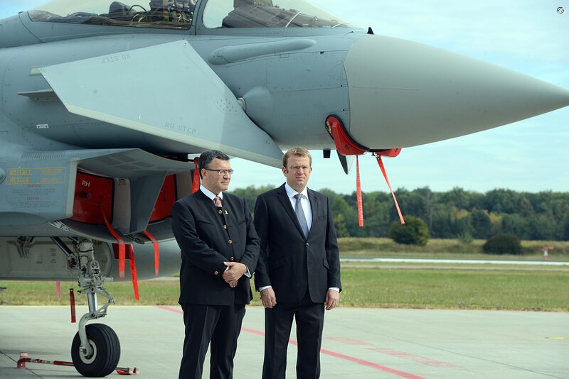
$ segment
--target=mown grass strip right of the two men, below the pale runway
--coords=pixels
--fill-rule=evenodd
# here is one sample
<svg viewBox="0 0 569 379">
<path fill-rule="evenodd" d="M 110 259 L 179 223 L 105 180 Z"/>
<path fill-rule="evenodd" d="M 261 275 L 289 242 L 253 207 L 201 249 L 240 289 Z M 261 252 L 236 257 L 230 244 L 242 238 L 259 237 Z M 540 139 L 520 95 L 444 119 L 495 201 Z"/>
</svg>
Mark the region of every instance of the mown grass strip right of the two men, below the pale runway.
<svg viewBox="0 0 569 379">
<path fill-rule="evenodd" d="M 568 311 L 569 271 L 342 271 L 341 304 L 351 307 Z"/>
</svg>

